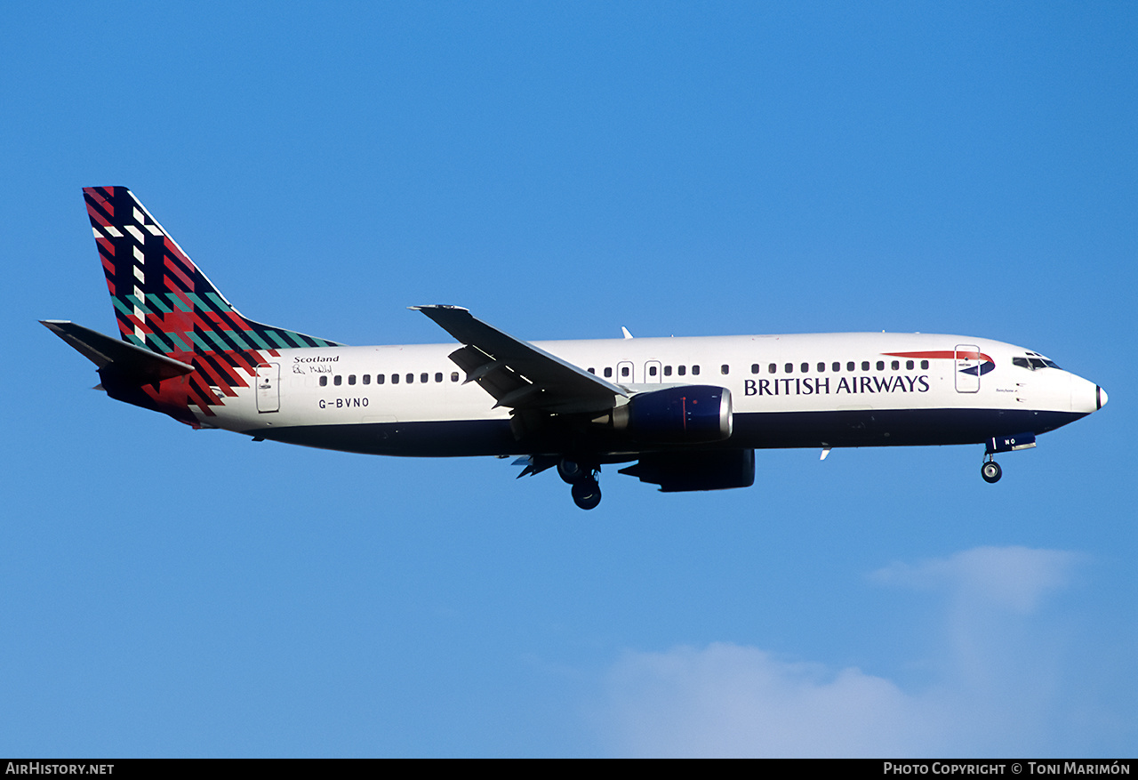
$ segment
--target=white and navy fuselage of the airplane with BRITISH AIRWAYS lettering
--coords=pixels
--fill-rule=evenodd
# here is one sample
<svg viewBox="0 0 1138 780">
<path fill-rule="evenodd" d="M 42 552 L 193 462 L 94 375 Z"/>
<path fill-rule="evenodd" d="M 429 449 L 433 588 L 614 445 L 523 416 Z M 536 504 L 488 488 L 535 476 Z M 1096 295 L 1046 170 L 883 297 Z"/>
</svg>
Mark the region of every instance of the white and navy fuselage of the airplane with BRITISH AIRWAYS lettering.
<svg viewBox="0 0 1138 780">
<path fill-rule="evenodd" d="M 1013 363 L 1026 362 L 1033 352 L 965 336 L 802 334 L 534 345 L 633 395 L 667 385 L 728 388 L 736 422 L 725 445 L 735 448 L 979 442 L 1021 429 L 1049 430 L 1095 411 L 1105 399 L 1094 383 L 1062 369 Z M 463 371 L 448 359 L 455 348 L 424 344 L 280 350 L 263 355 L 256 388 L 242 388 L 215 417 L 199 419 L 267 438 L 363 452 L 526 452 L 501 436 L 473 451 L 465 441 L 448 452 L 445 437 L 437 446 L 414 445 L 412 432 L 421 428 L 406 424 L 510 419 L 510 410 L 495 409 L 477 384 L 464 384 Z M 908 414 L 902 420 L 893 412 Z M 1004 419 L 1006 429 L 990 430 L 990 420 Z M 968 420 L 976 421 L 975 432 Z M 764 433 L 783 432 L 795 421 L 806 422 L 800 426 L 809 432 L 805 440 Z M 865 430 L 866 421 L 872 430 Z M 324 432 L 306 441 L 306 433 L 329 426 L 363 427 L 358 436 L 328 438 Z M 371 446 L 372 426 L 380 427 L 371 433 L 398 426 L 398 444 Z"/>
</svg>

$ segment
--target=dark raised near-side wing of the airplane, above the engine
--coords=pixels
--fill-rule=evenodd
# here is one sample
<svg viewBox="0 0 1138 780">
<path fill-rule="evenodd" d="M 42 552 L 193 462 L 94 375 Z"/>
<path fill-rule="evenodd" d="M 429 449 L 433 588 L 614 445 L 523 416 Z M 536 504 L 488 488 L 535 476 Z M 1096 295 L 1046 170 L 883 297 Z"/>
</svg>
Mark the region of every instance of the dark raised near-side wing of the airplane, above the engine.
<svg viewBox="0 0 1138 780">
<path fill-rule="evenodd" d="M 607 412 L 628 391 L 476 319 L 461 306 L 410 306 L 464 344 L 451 360 L 495 407 L 554 413 Z"/>
</svg>

